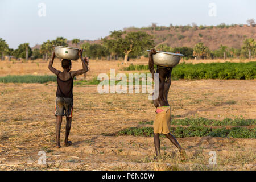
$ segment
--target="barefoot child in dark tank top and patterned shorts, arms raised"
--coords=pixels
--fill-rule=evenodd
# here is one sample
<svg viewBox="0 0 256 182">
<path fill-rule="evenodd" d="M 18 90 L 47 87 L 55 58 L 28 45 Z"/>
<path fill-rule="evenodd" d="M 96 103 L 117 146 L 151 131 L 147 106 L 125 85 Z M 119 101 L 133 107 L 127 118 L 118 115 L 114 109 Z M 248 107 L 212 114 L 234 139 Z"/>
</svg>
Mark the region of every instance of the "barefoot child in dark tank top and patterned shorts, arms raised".
<svg viewBox="0 0 256 182">
<path fill-rule="evenodd" d="M 61 61 L 61 67 L 63 71 L 59 71 L 52 67 L 55 53 L 52 55 L 52 59 L 49 61 L 49 70 L 57 75 L 57 92 L 56 92 L 56 104 L 55 104 L 55 116 L 56 116 L 56 148 L 60 148 L 60 128 L 62 117 L 66 116 L 66 133 L 65 133 L 65 146 L 70 146 L 71 141 L 68 141 L 68 135 L 71 129 L 72 112 L 73 112 L 73 80 L 76 75 L 82 75 L 88 71 L 88 67 L 85 64 L 85 60 L 82 59 L 82 50 L 79 50 L 79 57 L 82 61 L 82 69 L 78 71 L 71 71 L 71 60 L 63 59 Z M 65 111 L 65 113 L 64 113 Z"/>
</svg>

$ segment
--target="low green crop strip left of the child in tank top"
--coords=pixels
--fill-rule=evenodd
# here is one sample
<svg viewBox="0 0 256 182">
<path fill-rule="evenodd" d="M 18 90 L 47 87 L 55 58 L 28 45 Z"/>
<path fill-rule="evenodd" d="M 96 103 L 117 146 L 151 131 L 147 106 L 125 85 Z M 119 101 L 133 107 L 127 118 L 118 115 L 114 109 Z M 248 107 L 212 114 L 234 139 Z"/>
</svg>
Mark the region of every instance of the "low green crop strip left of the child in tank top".
<svg viewBox="0 0 256 182">
<path fill-rule="evenodd" d="M 49 81 L 56 81 L 55 75 L 7 75 L 0 77 L 2 83 L 45 83 Z"/>
</svg>

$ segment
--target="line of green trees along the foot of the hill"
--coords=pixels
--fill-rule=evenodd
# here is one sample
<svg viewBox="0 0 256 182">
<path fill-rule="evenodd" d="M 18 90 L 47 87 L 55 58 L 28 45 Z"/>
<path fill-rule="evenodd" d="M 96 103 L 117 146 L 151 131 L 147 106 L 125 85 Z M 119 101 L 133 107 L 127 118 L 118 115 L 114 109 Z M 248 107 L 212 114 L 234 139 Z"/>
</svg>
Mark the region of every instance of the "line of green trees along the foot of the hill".
<svg viewBox="0 0 256 182">
<path fill-rule="evenodd" d="M 80 39 L 73 39 L 72 44 L 76 48 L 84 49 L 84 56 L 91 59 L 120 59 L 127 64 L 130 58 L 139 58 L 148 56 L 147 49 L 154 48 L 157 51 L 179 52 L 184 55 L 184 59 L 227 59 L 227 58 L 248 58 L 255 57 L 256 43 L 253 38 L 247 38 L 240 49 L 220 45 L 217 50 L 210 50 L 203 43 L 197 43 L 191 47 L 170 47 L 167 44 L 155 45 L 152 35 L 143 31 L 112 31 L 110 35 L 102 38 L 100 44 L 82 43 Z M 29 43 L 23 43 L 17 49 L 9 48 L 5 40 L 0 38 L 1 59 L 4 56 L 21 59 L 43 59 L 48 60 L 53 52 L 53 45 L 68 46 L 67 39 L 57 37 L 55 40 L 43 42 L 39 49 L 32 50 Z"/>
</svg>

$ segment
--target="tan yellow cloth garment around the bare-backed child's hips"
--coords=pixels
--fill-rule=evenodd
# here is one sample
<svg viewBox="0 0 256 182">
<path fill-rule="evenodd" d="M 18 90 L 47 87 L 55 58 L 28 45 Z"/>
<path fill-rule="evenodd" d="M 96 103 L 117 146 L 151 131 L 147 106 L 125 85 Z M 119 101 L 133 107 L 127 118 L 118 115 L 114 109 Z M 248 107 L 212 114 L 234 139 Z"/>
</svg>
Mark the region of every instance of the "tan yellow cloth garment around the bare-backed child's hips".
<svg viewBox="0 0 256 182">
<path fill-rule="evenodd" d="M 163 111 L 155 115 L 153 123 L 154 133 L 170 133 L 171 107 L 157 107 L 156 109 L 162 109 Z"/>
</svg>

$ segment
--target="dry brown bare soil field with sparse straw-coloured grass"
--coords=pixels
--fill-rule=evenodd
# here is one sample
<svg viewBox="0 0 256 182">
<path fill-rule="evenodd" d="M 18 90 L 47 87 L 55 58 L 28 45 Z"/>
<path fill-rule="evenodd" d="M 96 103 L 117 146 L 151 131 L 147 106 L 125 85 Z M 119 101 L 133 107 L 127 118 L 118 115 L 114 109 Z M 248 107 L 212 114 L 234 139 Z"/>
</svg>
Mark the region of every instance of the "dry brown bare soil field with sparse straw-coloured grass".
<svg viewBox="0 0 256 182">
<path fill-rule="evenodd" d="M 141 64 L 141 61 L 136 61 Z M 60 68 L 59 60 L 55 65 Z M 146 63 L 146 62 L 145 62 Z M 11 65 L 8 67 L 8 65 Z M 47 63 L 0 61 L 0 75 L 49 74 Z M 73 68 L 81 66 L 73 62 Z M 92 61 L 88 77 L 121 71 L 121 61 Z M 22 69 L 22 71 L 20 71 Z M 0 170 L 255 170 L 256 139 L 177 138 L 187 151 L 181 161 L 174 145 L 160 138 L 163 158 L 155 155 L 152 137 L 115 136 L 122 129 L 152 121 L 155 108 L 148 94 L 99 94 L 97 85 L 74 86 L 74 113 L 69 140 L 55 148 L 56 83 L 0 84 Z M 176 118 L 256 118 L 256 80 L 172 81 L 168 100 Z M 145 125 L 146 126 L 146 125 Z M 108 136 L 104 133 L 109 134 Z M 39 151 L 46 152 L 39 165 Z M 209 165 L 216 151 L 217 165 Z"/>
</svg>

